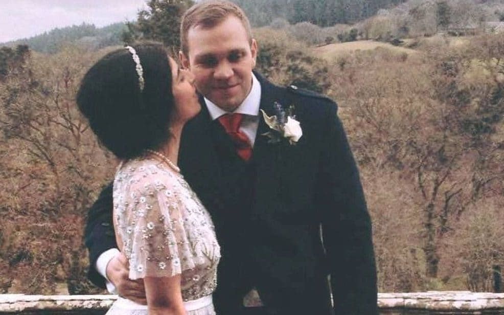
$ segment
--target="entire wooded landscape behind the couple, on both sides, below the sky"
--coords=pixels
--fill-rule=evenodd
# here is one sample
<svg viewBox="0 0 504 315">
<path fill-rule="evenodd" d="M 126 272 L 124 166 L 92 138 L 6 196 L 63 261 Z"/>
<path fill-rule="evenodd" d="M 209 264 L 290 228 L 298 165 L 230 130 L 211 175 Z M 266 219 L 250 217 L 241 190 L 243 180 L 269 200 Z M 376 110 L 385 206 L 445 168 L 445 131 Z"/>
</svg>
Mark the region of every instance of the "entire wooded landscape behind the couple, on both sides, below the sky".
<svg viewBox="0 0 504 315">
<path fill-rule="evenodd" d="M 379 290 L 501 289 L 504 7 L 236 2 L 254 22 L 260 73 L 338 103 L 373 220 Z M 112 46 L 76 38 L 54 51 L 0 48 L 0 293 L 102 292 L 86 280 L 82 235 L 118 161 L 89 130 L 75 96 L 87 69 L 122 41 L 176 47 L 176 34 L 162 26 L 176 26 L 191 2 L 148 4 Z M 316 13 L 329 7 L 344 17 Z"/>
</svg>

